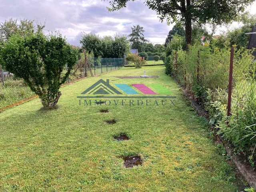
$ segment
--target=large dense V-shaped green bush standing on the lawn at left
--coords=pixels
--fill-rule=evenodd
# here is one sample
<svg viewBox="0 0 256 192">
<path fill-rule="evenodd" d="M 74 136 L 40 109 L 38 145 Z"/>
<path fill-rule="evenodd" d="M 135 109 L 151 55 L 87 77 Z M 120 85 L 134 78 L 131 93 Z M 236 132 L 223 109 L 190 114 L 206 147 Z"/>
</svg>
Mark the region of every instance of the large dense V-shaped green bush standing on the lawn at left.
<svg viewBox="0 0 256 192">
<path fill-rule="evenodd" d="M 30 36 L 12 35 L 0 46 L 0 64 L 23 78 L 42 101 L 44 108 L 54 108 L 72 67 L 78 50 L 72 48 L 60 34 L 45 36 L 41 30 Z M 66 74 L 62 72 L 66 69 Z"/>
</svg>

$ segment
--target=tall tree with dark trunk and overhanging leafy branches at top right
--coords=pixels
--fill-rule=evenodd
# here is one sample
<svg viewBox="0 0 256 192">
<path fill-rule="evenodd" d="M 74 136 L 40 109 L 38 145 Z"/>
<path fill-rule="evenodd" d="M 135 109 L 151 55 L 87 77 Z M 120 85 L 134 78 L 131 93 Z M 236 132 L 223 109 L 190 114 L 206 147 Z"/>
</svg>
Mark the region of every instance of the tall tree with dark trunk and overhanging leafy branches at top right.
<svg viewBox="0 0 256 192">
<path fill-rule="evenodd" d="M 109 0 L 104 0 L 109 1 Z M 130 0 L 110 0 L 109 11 L 126 7 Z M 134 0 L 132 0 L 134 1 Z M 192 22 L 216 24 L 236 20 L 240 12 L 255 0 L 145 0 L 146 5 L 155 10 L 158 17 L 167 23 L 182 22 L 185 24 L 186 48 L 192 43 Z"/>
</svg>

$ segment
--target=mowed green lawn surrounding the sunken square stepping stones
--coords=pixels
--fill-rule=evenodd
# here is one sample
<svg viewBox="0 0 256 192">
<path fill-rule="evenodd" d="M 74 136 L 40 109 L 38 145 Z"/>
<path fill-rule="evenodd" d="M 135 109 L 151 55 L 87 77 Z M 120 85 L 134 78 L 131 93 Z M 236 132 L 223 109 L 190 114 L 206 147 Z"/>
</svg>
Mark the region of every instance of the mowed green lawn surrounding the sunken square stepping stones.
<svg viewBox="0 0 256 192">
<path fill-rule="evenodd" d="M 159 78 L 113 77 L 144 70 Z M 129 99 L 126 106 L 120 99 L 117 105 L 79 105 L 76 97 L 100 78 L 112 85 L 162 84 L 177 96 L 175 106 L 130 106 Z M 212 143 L 205 120 L 191 111 L 163 66 L 122 68 L 61 91 L 57 110 L 40 110 L 34 99 L 0 114 L 0 191 L 236 191 L 234 171 Z M 117 123 L 104 122 L 110 119 Z M 114 140 L 118 133 L 130 140 Z M 143 165 L 125 168 L 120 157 L 126 155 L 142 156 Z"/>
</svg>

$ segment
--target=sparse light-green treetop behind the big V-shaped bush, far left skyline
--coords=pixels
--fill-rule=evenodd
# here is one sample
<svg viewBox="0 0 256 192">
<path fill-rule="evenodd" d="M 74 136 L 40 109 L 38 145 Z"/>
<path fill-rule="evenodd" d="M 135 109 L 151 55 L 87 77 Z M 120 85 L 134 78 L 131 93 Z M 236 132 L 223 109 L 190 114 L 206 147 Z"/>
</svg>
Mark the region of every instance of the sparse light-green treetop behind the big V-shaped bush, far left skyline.
<svg viewBox="0 0 256 192">
<path fill-rule="evenodd" d="M 39 25 L 38 25 L 39 27 Z M 43 26 L 40 26 L 42 29 Z M 0 42 L 7 41 L 12 35 L 19 34 L 20 36 L 26 36 L 30 34 L 34 34 L 35 26 L 34 21 L 31 20 L 20 20 L 18 24 L 18 20 L 10 19 L 5 22 L 0 23 Z"/>
</svg>

